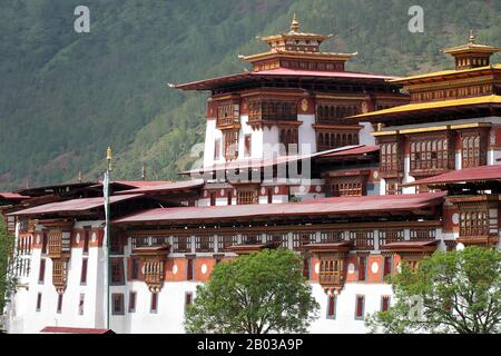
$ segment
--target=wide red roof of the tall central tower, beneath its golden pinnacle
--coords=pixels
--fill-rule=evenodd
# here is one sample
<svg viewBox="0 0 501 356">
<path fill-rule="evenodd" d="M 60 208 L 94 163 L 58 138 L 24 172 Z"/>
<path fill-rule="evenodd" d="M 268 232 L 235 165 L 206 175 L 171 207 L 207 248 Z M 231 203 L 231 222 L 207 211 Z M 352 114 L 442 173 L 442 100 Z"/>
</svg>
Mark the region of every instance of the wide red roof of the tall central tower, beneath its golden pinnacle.
<svg viewBox="0 0 501 356">
<path fill-rule="evenodd" d="M 262 71 L 249 71 L 242 72 L 230 76 L 204 79 L 198 81 L 191 81 L 183 85 L 175 86 L 176 89 L 184 90 L 209 90 L 216 85 L 229 83 L 235 81 L 253 80 L 258 78 L 269 78 L 269 77 L 302 77 L 302 78 L 325 78 L 333 80 L 377 80 L 385 81 L 387 79 L 397 79 L 397 77 L 390 76 L 379 76 L 372 73 L 362 73 L 354 71 L 320 71 L 320 70 L 301 70 L 301 69 L 289 69 L 289 68 L 276 68 Z"/>
</svg>

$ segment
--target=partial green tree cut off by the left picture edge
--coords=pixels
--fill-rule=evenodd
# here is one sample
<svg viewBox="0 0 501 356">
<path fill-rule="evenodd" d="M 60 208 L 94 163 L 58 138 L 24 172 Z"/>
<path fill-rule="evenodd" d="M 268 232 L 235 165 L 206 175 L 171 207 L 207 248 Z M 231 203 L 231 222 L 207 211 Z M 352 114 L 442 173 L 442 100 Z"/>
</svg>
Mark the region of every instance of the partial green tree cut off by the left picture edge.
<svg viewBox="0 0 501 356">
<path fill-rule="evenodd" d="M 0 315 L 3 313 L 6 300 L 14 290 L 17 278 L 10 271 L 17 265 L 17 257 L 13 255 L 14 238 L 7 230 L 3 217 L 0 215 Z"/>
</svg>

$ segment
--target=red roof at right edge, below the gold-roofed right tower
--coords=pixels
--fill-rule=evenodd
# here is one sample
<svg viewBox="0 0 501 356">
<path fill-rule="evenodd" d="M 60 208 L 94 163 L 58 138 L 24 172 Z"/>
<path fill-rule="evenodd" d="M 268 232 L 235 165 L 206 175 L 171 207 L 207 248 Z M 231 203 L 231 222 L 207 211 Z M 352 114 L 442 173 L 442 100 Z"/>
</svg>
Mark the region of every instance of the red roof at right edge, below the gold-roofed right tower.
<svg viewBox="0 0 501 356">
<path fill-rule="evenodd" d="M 443 175 L 416 180 L 403 186 L 418 185 L 440 185 L 448 182 L 475 181 L 475 180 L 501 180 L 501 165 L 480 166 L 473 168 L 464 168 L 451 170 Z"/>
</svg>

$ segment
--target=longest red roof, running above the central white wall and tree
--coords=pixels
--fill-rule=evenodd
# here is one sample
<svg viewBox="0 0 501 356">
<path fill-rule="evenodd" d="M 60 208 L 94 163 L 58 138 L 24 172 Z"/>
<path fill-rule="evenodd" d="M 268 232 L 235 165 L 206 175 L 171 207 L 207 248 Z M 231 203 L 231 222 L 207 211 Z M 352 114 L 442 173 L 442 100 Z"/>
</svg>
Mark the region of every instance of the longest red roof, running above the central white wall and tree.
<svg viewBox="0 0 501 356">
<path fill-rule="evenodd" d="M 400 196 L 365 196 L 313 199 L 303 202 L 236 205 L 216 207 L 157 208 L 116 219 L 115 224 L 189 222 L 243 220 L 271 217 L 291 218 L 301 216 L 364 215 L 392 211 L 410 211 L 442 204 L 445 192 L 428 192 Z"/>
</svg>

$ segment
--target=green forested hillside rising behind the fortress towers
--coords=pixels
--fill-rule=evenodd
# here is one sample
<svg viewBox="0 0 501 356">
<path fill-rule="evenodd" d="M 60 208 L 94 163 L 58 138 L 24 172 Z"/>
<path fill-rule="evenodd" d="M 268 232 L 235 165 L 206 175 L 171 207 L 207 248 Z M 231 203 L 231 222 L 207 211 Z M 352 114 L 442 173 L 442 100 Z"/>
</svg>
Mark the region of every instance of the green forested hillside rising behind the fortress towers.
<svg viewBox="0 0 501 356">
<path fill-rule="evenodd" d="M 0 188 L 96 179 L 107 146 L 115 177 L 169 179 L 203 139 L 205 93 L 167 87 L 242 71 L 255 39 L 302 29 L 358 51 L 350 70 L 392 75 L 450 68 L 440 52 L 501 44 L 501 1 L 421 0 L 425 32 L 407 30 L 411 0 L 0 0 Z M 90 8 L 90 33 L 73 9 Z M 495 59 L 499 62 L 499 57 Z"/>
</svg>

